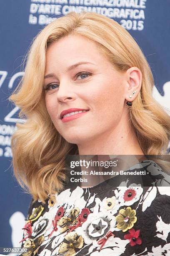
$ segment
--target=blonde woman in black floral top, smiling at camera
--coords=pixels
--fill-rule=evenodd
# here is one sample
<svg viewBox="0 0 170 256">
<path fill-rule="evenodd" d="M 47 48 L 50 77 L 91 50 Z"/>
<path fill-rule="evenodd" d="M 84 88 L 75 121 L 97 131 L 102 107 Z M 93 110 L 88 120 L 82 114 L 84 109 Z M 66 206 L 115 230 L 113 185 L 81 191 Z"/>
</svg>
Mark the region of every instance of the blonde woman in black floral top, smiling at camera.
<svg viewBox="0 0 170 256">
<path fill-rule="evenodd" d="M 40 31 L 10 97 L 26 119 L 12 138 L 15 176 L 32 194 L 23 255 L 170 253 L 169 175 L 155 163 L 163 164 L 170 117 L 152 90 L 142 51 L 114 20 L 72 12 Z M 148 176 L 77 184 L 67 154 L 131 155 L 121 167 Z"/>
</svg>

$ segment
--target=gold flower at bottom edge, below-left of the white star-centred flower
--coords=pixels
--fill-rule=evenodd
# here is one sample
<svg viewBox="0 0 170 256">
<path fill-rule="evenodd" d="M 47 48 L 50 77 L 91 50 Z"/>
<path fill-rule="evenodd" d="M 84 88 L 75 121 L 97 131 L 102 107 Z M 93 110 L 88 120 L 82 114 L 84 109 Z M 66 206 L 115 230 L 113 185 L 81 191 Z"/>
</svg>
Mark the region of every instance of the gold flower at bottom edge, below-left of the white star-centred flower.
<svg viewBox="0 0 170 256">
<path fill-rule="evenodd" d="M 75 248 L 82 248 L 84 240 L 75 231 L 68 233 L 60 244 L 59 253 L 63 256 L 75 256 Z"/>
</svg>

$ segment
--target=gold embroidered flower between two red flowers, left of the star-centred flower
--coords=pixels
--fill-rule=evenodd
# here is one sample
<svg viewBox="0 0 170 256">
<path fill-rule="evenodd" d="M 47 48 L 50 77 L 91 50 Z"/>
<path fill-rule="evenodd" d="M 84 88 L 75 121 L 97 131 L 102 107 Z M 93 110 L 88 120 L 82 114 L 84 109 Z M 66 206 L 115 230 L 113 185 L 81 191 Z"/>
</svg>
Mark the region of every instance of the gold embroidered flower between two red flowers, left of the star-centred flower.
<svg viewBox="0 0 170 256">
<path fill-rule="evenodd" d="M 64 216 L 58 220 L 58 225 L 60 226 L 60 233 L 64 233 L 70 226 L 77 222 L 77 217 L 79 215 L 79 208 L 73 208 L 70 210 L 68 216 Z"/>
</svg>

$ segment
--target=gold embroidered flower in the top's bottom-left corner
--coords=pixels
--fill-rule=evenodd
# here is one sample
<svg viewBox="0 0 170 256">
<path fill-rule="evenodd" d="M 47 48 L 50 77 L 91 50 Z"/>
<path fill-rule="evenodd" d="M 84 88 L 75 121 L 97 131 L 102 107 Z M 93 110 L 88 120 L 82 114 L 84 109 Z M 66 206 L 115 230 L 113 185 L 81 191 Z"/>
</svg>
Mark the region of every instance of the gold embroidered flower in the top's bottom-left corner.
<svg viewBox="0 0 170 256">
<path fill-rule="evenodd" d="M 27 248 L 27 251 L 23 252 L 21 255 L 22 256 L 35 255 L 35 253 L 37 253 L 43 241 L 44 241 L 44 236 L 39 236 L 38 238 L 34 238 L 34 239 L 30 238 L 29 240 L 25 241 L 23 248 Z"/>
</svg>

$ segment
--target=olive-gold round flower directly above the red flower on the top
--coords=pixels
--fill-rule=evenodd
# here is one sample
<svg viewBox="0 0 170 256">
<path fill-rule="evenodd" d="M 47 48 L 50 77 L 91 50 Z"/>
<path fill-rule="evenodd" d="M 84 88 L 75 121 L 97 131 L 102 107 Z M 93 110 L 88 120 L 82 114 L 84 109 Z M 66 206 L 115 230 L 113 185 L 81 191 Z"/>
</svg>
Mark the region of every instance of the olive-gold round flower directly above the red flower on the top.
<svg viewBox="0 0 170 256">
<path fill-rule="evenodd" d="M 119 214 L 116 216 L 117 228 L 122 229 L 123 232 L 130 228 L 133 228 L 134 223 L 137 221 L 136 211 L 132 210 L 131 207 L 121 209 Z"/>
</svg>

